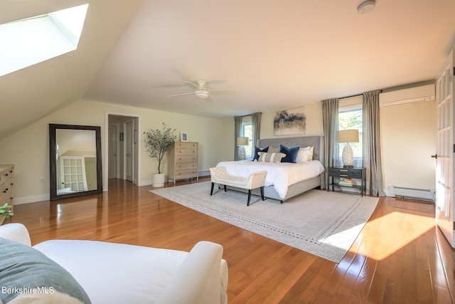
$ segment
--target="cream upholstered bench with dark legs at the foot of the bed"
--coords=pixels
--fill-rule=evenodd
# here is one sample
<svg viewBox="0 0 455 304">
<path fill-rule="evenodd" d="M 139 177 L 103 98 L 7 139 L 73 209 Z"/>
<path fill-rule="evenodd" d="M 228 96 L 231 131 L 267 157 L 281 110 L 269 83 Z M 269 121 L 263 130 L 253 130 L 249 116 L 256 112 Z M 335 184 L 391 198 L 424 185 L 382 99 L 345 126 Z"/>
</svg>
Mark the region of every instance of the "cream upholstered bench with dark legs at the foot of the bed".
<svg viewBox="0 0 455 304">
<path fill-rule="evenodd" d="M 253 172 L 249 177 L 235 177 L 228 174 L 226 167 L 210 168 L 210 177 L 212 179 L 212 189 L 210 190 L 210 195 L 213 194 L 213 186 L 215 186 L 215 184 L 222 184 L 225 188 L 225 192 L 228 191 L 226 186 L 247 189 L 247 206 L 250 206 L 251 192 L 253 189 L 260 188 L 261 198 L 264 201 L 264 181 L 266 175 L 267 171 L 258 171 Z"/>
</svg>

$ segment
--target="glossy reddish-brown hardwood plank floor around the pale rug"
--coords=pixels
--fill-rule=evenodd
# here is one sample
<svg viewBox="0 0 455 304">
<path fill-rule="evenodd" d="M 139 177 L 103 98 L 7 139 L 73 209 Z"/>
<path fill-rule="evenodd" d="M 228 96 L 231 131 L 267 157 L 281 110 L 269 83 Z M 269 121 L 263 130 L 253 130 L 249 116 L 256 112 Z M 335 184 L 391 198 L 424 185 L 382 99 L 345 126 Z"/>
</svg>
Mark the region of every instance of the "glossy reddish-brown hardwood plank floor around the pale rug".
<svg viewBox="0 0 455 304">
<path fill-rule="evenodd" d="M 33 244 L 90 239 L 189 251 L 200 240 L 220 243 L 229 303 L 453 303 L 455 254 L 434 225 L 434 204 L 380 198 L 337 264 L 150 189 L 113 179 L 103 194 L 17 205 L 11 221 L 26 225 Z"/>
</svg>

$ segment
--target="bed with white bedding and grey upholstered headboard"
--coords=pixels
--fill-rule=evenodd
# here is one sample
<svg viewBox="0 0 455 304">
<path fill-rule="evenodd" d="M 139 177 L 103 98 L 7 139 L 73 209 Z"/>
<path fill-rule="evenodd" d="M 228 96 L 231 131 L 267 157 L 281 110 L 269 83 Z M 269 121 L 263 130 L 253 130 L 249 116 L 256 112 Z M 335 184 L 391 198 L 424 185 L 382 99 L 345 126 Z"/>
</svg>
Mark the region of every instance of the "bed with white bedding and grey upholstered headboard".
<svg viewBox="0 0 455 304">
<path fill-rule="evenodd" d="M 279 146 L 286 147 L 314 147 L 313 160 L 298 164 L 291 163 L 263 163 L 250 160 L 235 162 L 219 162 L 217 167 L 226 167 L 228 173 L 235 176 L 247 177 L 251 172 L 267 170 L 265 179 L 264 196 L 277 199 L 280 202 L 306 192 L 316 187 L 325 188 L 323 167 L 323 137 L 304 136 L 271 138 L 259 140 L 257 147 L 272 147 L 279 150 Z M 310 171 L 310 172 L 308 172 Z M 308 173 L 308 174 L 307 174 Z M 244 191 L 235 187 L 228 187 L 237 191 Z M 253 194 L 260 195 L 256 189 Z"/>
</svg>

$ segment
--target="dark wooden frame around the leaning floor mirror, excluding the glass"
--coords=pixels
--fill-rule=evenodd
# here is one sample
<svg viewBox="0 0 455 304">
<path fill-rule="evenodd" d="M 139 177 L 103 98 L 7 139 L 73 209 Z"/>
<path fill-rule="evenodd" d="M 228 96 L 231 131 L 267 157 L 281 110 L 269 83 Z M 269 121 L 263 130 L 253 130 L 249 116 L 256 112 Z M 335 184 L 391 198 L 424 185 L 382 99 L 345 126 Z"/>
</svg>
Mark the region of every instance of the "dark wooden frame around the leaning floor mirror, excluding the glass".
<svg viewBox="0 0 455 304">
<path fill-rule="evenodd" d="M 97 189 L 85 192 L 75 192 L 57 195 L 57 130 L 93 130 L 96 140 L 96 167 L 97 167 Z M 101 127 L 87 125 L 57 125 L 49 124 L 49 174 L 50 174 L 50 201 L 58 199 L 68 199 L 70 197 L 86 196 L 90 194 L 102 193 L 102 173 L 101 173 Z"/>
</svg>

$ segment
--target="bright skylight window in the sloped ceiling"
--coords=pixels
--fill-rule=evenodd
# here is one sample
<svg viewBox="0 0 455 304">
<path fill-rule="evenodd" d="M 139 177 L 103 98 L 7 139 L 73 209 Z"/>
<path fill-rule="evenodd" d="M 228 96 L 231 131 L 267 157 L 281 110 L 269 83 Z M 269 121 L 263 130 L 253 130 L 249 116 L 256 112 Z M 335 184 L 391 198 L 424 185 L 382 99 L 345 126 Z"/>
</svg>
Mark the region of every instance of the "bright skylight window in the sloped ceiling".
<svg viewBox="0 0 455 304">
<path fill-rule="evenodd" d="M 88 4 L 0 25 L 0 76 L 70 51 L 79 43 Z"/>
</svg>

